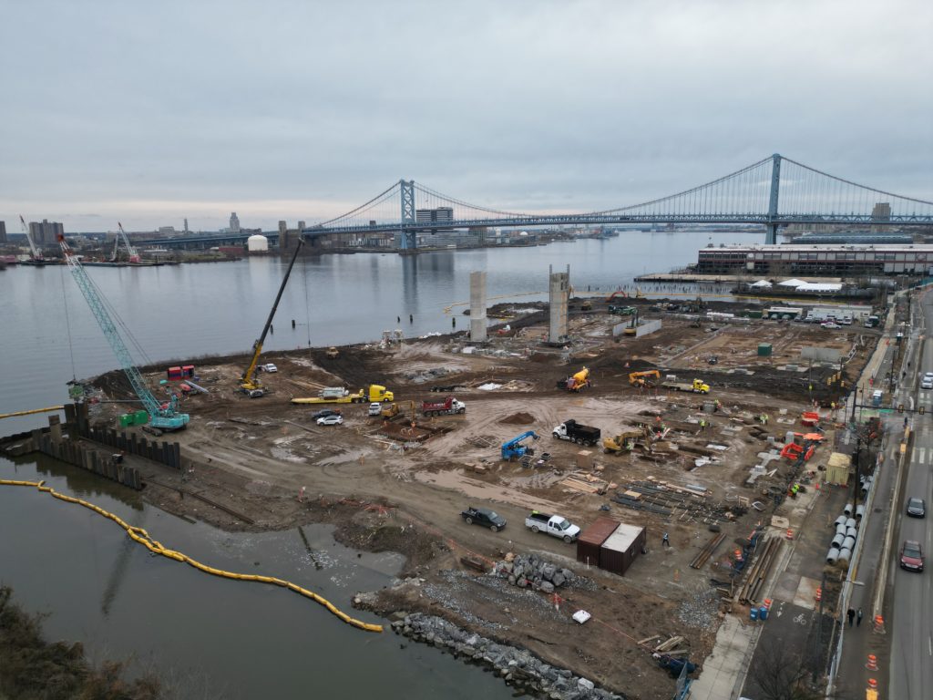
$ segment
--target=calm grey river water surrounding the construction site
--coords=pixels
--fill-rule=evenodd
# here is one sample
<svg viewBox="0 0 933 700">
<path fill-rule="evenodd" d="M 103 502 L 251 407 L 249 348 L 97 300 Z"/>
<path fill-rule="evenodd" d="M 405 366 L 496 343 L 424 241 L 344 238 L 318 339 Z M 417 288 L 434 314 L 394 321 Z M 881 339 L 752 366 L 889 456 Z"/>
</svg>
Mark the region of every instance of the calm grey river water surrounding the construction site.
<svg viewBox="0 0 933 700">
<path fill-rule="evenodd" d="M 693 262 L 707 242 L 759 238 L 747 232 L 633 232 L 531 248 L 299 259 L 265 347 L 363 343 L 394 328 L 409 336 L 449 332 L 453 317 L 458 329 L 466 329 L 462 312 L 474 270 L 487 272 L 491 304 L 536 301 L 547 298 L 551 265 L 563 271 L 569 264 L 578 290 L 608 290 L 631 286 L 637 274 Z M 137 362 L 196 362 L 198 356 L 250 348 L 285 264 L 263 257 L 88 273 L 125 323 L 126 337 L 142 348 L 134 351 Z M 0 272 L 0 295 L 0 413 L 62 403 L 73 375 L 115 367 L 67 268 L 8 268 Z M 0 434 L 45 424 L 41 415 L 7 419 Z M 0 477 L 46 479 L 210 566 L 292 579 L 339 607 L 347 607 L 357 590 L 387 584 L 398 566 L 391 555 L 346 555 L 325 527 L 229 535 L 188 523 L 45 457 L 18 464 L 0 458 Z M 402 649 L 394 635 L 359 632 L 297 595 L 152 557 L 99 515 L 32 489 L 0 487 L 0 531 L 0 581 L 16 589 L 27 609 L 51 613 L 50 637 L 83 641 L 98 657 L 132 654 L 140 664 L 171 669 L 192 687 L 202 683 L 225 697 L 510 696 L 476 667 L 431 649 Z"/>
</svg>

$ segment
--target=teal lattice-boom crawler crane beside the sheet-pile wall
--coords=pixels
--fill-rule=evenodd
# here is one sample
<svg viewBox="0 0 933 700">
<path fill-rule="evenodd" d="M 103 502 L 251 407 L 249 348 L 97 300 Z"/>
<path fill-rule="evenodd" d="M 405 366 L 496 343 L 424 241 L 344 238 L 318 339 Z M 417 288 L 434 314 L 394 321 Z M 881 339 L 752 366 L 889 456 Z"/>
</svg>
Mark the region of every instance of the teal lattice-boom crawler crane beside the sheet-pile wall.
<svg viewBox="0 0 933 700">
<path fill-rule="evenodd" d="M 133 392 L 135 392 L 136 396 L 146 408 L 146 413 L 149 414 L 149 425 L 159 430 L 180 430 L 187 426 L 188 413 L 177 412 L 178 397 L 173 394 L 172 399 L 170 399 L 168 403 L 160 404 L 159 400 L 149 391 L 149 387 L 146 386 L 143 375 L 133 364 L 130 350 L 127 348 L 126 343 L 123 343 L 123 339 L 120 337 L 117 330 L 117 325 L 107 312 L 104 306 L 104 300 L 97 293 L 97 289 L 91 282 L 91 278 L 81 266 L 81 262 L 77 259 L 77 255 L 75 255 L 65 242 L 64 236 L 59 234 L 58 239 L 59 245 L 62 246 L 65 262 L 68 263 L 68 267 L 71 270 L 71 276 L 75 278 L 77 287 L 84 295 L 84 299 L 88 302 L 88 306 L 91 307 L 91 313 L 94 315 L 94 318 L 97 319 L 97 323 L 101 327 L 101 330 L 104 331 L 104 337 L 107 339 L 107 342 L 110 343 L 114 355 L 117 356 L 120 368 L 126 374 L 126 378 L 130 380 Z"/>
</svg>

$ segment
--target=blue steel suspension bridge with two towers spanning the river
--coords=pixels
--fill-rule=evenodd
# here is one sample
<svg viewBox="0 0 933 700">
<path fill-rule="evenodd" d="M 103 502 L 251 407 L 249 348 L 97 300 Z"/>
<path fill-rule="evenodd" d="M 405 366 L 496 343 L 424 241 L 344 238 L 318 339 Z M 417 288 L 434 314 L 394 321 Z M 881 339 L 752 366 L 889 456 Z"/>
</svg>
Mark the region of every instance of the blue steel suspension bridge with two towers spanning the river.
<svg viewBox="0 0 933 700">
<path fill-rule="evenodd" d="M 761 224 L 765 242 L 789 224 L 886 227 L 933 224 L 933 202 L 858 185 L 774 154 L 730 175 L 650 202 L 604 211 L 534 215 L 463 202 L 414 180 L 399 180 L 352 211 L 303 229 L 313 239 L 335 233 L 400 233 L 414 250 L 418 233 L 488 227 L 606 224 Z"/>
</svg>

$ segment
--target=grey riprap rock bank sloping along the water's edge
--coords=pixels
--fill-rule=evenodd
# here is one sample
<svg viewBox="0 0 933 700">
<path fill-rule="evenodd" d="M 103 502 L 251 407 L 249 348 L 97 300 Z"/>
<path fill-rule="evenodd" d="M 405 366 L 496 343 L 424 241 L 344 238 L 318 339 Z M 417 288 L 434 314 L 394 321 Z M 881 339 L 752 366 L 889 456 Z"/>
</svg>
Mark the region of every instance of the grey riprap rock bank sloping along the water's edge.
<svg viewBox="0 0 933 700">
<path fill-rule="evenodd" d="M 392 629 L 396 634 L 490 666 L 494 673 L 523 693 L 546 694 L 550 700 L 625 700 L 624 695 L 596 688 L 592 680 L 545 664 L 528 651 L 496 644 L 492 639 L 462 630 L 439 617 L 397 612 L 393 618 Z"/>
</svg>

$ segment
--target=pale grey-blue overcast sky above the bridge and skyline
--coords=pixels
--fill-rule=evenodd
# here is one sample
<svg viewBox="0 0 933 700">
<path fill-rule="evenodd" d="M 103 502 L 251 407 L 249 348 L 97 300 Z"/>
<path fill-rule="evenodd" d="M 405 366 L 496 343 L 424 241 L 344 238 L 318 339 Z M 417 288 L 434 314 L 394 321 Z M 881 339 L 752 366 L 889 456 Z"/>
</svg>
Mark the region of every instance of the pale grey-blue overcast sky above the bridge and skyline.
<svg viewBox="0 0 933 700">
<path fill-rule="evenodd" d="M 928 0 L 0 0 L 0 219 L 273 228 L 400 177 L 520 212 L 779 152 L 933 200 Z"/>
</svg>

